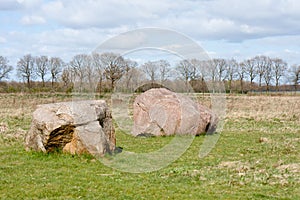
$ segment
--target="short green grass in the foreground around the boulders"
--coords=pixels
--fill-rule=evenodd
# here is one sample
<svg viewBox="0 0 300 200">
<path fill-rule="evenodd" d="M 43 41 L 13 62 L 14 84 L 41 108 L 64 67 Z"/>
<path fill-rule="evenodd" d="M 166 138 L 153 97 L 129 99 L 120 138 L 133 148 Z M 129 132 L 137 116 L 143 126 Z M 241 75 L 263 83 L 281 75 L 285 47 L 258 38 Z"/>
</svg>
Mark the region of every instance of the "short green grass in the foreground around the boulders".
<svg viewBox="0 0 300 200">
<path fill-rule="evenodd" d="M 257 125 L 263 126 L 266 122 Z M 225 129 L 230 129 L 230 122 Z M 245 124 L 245 126 L 251 125 Z M 299 127 L 298 127 L 299 128 Z M 277 135 L 276 135 L 277 134 Z M 260 143 L 261 136 L 270 143 Z M 133 138 L 118 132 L 118 146 L 155 150 L 172 138 Z M 21 142 L 1 140 L 1 199 L 299 199 L 299 133 L 230 132 L 205 158 L 196 137 L 174 163 L 150 173 L 125 173 L 91 156 L 26 152 Z"/>
</svg>

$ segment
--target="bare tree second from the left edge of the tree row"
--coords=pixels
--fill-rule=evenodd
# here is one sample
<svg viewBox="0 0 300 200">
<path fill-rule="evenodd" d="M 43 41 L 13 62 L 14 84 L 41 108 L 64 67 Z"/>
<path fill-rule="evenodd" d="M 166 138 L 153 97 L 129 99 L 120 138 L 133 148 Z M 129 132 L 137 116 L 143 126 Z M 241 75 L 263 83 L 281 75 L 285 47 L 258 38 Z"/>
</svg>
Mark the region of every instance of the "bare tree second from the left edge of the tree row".
<svg viewBox="0 0 300 200">
<path fill-rule="evenodd" d="M 34 78 L 34 58 L 31 54 L 27 54 L 19 59 L 17 63 L 17 74 L 20 78 L 26 80 L 27 87 L 31 87 L 31 80 Z"/>
</svg>

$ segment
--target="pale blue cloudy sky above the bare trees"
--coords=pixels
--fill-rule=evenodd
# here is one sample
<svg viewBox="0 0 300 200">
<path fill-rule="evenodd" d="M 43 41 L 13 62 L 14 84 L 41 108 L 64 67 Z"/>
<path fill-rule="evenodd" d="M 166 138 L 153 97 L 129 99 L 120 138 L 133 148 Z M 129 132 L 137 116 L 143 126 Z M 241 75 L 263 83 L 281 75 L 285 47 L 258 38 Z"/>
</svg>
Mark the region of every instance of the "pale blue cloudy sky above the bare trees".
<svg viewBox="0 0 300 200">
<path fill-rule="evenodd" d="M 0 0 L 0 55 L 13 66 L 28 53 L 68 62 L 151 27 L 186 36 L 212 58 L 266 55 L 300 64 L 298 0 Z"/>
</svg>

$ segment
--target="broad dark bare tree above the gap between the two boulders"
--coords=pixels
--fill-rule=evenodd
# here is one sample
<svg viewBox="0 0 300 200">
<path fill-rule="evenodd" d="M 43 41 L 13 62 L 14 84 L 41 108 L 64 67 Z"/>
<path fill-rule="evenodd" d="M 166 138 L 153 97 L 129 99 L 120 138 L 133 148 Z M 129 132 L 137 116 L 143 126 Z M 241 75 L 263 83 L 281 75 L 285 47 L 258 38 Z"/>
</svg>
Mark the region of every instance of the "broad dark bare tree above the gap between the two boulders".
<svg viewBox="0 0 300 200">
<path fill-rule="evenodd" d="M 103 53 L 100 59 L 104 67 L 104 75 L 110 80 L 111 89 L 113 90 L 115 88 L 115 82 L 125 73 L 124 58 L 115 53 Z"/>
</svg>

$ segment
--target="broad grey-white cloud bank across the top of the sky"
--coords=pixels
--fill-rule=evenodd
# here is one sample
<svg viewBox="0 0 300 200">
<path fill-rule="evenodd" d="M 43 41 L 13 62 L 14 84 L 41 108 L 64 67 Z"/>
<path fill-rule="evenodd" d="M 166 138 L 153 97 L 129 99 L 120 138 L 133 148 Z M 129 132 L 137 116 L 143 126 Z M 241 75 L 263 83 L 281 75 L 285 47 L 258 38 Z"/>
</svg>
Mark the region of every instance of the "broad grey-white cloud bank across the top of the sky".
<svg viewBox="0 0 300 200">
<path fill-rule="evenodd" d="M 27 2 L 27 3 L 26 3 Z M 73 29 L 171 28 L 200 39 L 242 41 L 300 32 L 296 0 L 94 1 L 26 0 L 35 17 Z M 299 9 L 298 9 L 299 8 Z M 298 10 L 297 10 L 298 9 Z M 27 17 L 28 18 L 28 17 Z M 28 21 L 28 20 L 26 20 Z"/>
</svg>

